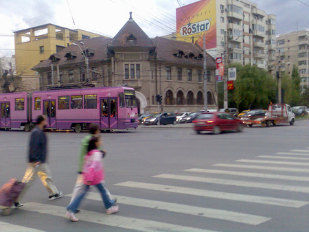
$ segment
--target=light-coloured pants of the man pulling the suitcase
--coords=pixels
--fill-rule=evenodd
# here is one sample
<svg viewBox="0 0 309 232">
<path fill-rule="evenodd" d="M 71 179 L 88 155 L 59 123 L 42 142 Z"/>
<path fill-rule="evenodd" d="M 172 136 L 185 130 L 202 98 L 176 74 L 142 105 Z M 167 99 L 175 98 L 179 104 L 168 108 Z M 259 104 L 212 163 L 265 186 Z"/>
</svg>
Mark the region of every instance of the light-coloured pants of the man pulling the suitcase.
<svg viewBox="0 0 309 232">
<path fill-rule="evenodd" d="M 38 167 L 34 167 L 33 163 L 28 163 L 27 170 L 25 171 L 25 175 L 23 176 L 22 181 L 24 183 L 27 183 L 27 185 L 25 185 L 23 192 L 21 192 L 16 202 L 19 202 L 23 198 L 25 192 L 27 192 L 27 189 L 30 187 L 32 181 L 34 181 L 36 176 L 41 178 L 41 181 L 46 187 L 49 196 L 54 196 L 55 194 L 58 194 L 58 189 L 52 181 L 52 173 L 50 172 L 49 165 L 47 163 L 41 163 L 40 165 L 38 165 Z"/>
</svg>

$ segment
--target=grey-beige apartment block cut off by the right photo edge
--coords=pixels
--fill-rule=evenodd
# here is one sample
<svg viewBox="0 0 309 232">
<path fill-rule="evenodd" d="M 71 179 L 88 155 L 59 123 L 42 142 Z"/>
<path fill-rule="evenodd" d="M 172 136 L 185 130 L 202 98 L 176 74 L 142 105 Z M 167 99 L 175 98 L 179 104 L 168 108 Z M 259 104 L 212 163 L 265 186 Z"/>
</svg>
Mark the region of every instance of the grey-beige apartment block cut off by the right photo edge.
<svg viewBox="0 0 309 232">
<path fill-rule="evenodd" d="M 301 85 L 309 86 L 309 32 L 301 30 L 277 37 L 277 54 L 280 61 L 280 70 L 292 76 L 293 66 L 297 65 Z"/>
</svg>

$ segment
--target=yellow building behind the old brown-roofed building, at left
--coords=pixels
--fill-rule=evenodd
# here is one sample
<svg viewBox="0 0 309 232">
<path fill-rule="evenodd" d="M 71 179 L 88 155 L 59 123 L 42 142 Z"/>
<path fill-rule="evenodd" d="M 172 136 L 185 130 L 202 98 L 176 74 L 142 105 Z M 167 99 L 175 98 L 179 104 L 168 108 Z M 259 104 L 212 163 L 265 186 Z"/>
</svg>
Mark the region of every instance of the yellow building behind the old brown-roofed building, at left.
<svg viewBox="0 0 309 232">
<path fill-rule="evenodd" d="M 71 30 L 54 24 L 39 25 L 14 32 L 16 73 L 31 83 L 27 91 L 39 90 L 39 78 L 32 67 L 78 40 L 102 36 L 84 30 Z"/>
</svg>

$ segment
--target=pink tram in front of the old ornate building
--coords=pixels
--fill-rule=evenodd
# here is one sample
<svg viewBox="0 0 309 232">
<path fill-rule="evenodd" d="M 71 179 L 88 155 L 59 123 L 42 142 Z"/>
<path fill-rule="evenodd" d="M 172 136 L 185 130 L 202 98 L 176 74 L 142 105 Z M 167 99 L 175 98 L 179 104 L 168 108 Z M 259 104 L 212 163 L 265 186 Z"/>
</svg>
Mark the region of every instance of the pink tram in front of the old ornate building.
<svg viewBox="0 0 309 232">
<path fill-rule="evenodd" d="M 62 89 L 34 93 L 0 94 L 0 128 L 32 129 L 38 115 L 47 128 L 76 132 L 93 122 L 101 130 L 137 128 L 135 90 L 128 87 Z"/>
</svg>

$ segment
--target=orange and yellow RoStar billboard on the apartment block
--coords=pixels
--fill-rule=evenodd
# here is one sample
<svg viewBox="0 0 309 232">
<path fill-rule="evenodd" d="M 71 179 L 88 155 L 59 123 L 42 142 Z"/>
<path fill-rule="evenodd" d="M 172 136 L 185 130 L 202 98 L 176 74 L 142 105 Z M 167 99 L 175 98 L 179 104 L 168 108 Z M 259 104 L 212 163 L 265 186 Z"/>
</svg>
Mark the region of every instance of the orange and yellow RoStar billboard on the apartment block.
<svg viewBox="0 0 309 232">
<path fill-rule="evenodd" d="M 216 0 L 202 0 L 176 9 L 176 38 L 198 43 L 206 49 L 216 47 Z"/>
</svg>

